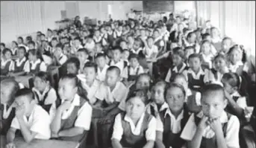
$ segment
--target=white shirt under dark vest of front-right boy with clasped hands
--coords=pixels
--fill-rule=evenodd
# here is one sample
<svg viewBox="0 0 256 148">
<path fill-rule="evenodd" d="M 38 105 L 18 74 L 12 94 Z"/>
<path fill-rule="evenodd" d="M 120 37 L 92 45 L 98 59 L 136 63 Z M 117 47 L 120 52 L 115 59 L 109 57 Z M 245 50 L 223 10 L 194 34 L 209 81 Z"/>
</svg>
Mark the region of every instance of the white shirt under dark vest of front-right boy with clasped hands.
<svg viewBox="0 0 256 148">
<path fill-rule="evenodd" d="M 203 113 L 199 112 L 198 115 L 199 118 L 202 118 Z M 227 131 L 225 136 L 225 143 L 228 147 L 236 147 L 239 148 L 239 130 L 240 130 L 240 121 L 239 119 L 231 115 L 231 117 L 228 120 L 228 115 L 225 111 L 222 112 L 222 115 L 220 116 L 220 122 L 221 123 L 227 123 Z M 189 120 L 187 120 L 186 126 L 184 126 L 183 131 L 181 132 L 181 138 L 183 138 L 186 141 L 191 141 L 196 134 L 196 123 L 195 123 L 195 114 L 190 115 Z M 213 129 L 210 129 L 210 126 L 207 126 L 205 131 L 203 132 L 203 137 L 205 138 L 212 138 L 215 135 L 215 132 L 213 132 Z"/>
</svg>

